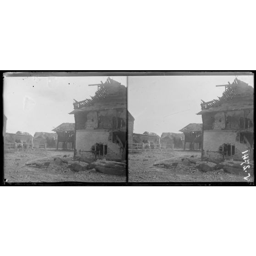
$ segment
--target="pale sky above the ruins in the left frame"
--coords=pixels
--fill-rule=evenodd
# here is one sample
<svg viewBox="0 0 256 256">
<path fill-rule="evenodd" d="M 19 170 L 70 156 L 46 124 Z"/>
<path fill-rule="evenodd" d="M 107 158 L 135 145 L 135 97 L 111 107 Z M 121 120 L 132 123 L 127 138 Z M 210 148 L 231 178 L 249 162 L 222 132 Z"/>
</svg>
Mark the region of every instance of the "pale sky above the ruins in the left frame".
<svg viewBox="0 0 256 256">
<path fill-rule="evenodd" d="M 81 101 L 94 96 L 97 86 L 107 77 L 24 77 L 4 78 L 4 114 L 6 132 L 53 133 L 62 122 L 75 122 L 73 99 Z M 127 77 L 111 77 L 127 86 Z"/>
</svg>

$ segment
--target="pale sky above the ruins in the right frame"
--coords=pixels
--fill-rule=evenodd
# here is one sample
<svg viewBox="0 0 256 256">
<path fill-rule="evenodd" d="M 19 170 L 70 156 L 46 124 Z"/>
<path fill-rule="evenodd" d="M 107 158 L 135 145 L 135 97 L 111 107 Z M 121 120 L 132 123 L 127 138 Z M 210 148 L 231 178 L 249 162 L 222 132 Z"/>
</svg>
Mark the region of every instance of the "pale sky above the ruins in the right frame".
<svg viewBox="0 0 256 256">
<path fill-rule="evenodd" d="M 189 123 L 202 123 L 201 100 L 222 96 L 235 76 L 141 76 L 128 77 L 128 111 L 135 118 L 134 133 L 161 136 L 179 133 Z M 253 76 L 237 76 L 253 86 Z"/>
</svg>

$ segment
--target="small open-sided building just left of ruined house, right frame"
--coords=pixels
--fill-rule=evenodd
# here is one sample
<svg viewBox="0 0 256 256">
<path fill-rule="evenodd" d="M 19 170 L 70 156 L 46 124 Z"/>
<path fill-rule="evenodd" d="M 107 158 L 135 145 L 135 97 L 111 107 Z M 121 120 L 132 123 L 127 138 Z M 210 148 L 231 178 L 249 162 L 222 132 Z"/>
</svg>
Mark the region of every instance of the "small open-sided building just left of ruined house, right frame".
<svg viewBox="0 0 256 256">
<path fill-rule="evenodd" d="M 184 150 L 186 150 L 186 146 L 189 146 L 190 150 L 201 149 L 202 128 L 202 123 L 189 123 L 187 126 L 179 130 L 179 132 L 182 132 L 185 135 Z"/>
</svg>

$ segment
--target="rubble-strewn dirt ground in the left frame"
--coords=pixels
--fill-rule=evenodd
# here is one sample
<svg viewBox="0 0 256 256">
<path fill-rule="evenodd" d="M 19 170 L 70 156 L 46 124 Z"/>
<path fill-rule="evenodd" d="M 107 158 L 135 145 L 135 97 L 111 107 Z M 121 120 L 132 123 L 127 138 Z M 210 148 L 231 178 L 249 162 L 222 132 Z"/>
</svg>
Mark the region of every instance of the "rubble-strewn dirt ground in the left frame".
<svg viewBox="0 0 256 256">
<path fill-rule="evenodd" d="M 7 182 L 126 182 L 126 177 L 98 173 L 96 171 L 74 172 L 67 167 L 67 163 L 57 166 L 53 162 L 54 157 L 64 155 L 73 156 L 72 151 L 65 150 L 34 150 L 5 152 L 4 174 Z M 50 166 L 35 168 L 26 166 L 31 161 L 50 161 Z"/>
</svg>

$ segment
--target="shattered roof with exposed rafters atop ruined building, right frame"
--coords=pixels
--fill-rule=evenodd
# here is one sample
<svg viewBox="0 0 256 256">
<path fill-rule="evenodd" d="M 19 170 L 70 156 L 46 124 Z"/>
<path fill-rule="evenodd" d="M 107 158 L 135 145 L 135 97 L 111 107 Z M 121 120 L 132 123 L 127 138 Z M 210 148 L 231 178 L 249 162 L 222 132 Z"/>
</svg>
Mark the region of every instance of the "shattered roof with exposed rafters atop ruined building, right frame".
<svg viewBox="0 0 256 256">
<path fill-rule="evenodd" d="M 223 103 L 228 103 L 234 99 L 240 101 L 246 97 L 248 100 L 253 100 L 254 89 L 248 83 L 245 83 L 238 78 L 235 78 L 233 83 L 228 82 L 228 84 L 217 86 L 225 86 L 223 95 L 218 97 L 218 100 L 211 100 L 208 102 L 202 100 L 202 110 L 221 106 Z"/>
</svg>

